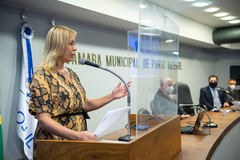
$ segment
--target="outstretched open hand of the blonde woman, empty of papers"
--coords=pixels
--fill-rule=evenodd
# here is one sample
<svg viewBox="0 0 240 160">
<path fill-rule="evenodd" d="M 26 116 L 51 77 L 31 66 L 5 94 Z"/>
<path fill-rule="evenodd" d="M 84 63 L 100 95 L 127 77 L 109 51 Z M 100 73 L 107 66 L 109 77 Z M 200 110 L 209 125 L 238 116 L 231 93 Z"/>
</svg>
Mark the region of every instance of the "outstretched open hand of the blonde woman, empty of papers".
<svg viewBox="0 0 240 160">
<path fill-rule="evenodd" d="M 119 82 L 118 85 L 113 89 L 112 91 L 113 99 L 119 99 L 128 94 L 126 86 L 125 85 L 121 87 L 120 86 L 121 86 L 121 82 Z M 128 87 L 131 86 L 131 81 L 127 82 L 127 86 Z"/>
</svg>

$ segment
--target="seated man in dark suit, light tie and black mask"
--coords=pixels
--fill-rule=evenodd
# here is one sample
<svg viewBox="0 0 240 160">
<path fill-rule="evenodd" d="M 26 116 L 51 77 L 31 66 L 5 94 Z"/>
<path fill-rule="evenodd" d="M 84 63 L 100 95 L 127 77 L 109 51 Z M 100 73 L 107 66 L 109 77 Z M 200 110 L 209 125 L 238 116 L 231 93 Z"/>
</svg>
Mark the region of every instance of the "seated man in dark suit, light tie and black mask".
<svg viewBox="0 0 240 160">
<path fill-rule="evenodd" d="M 211 75 L 208 78 L 208 86 L 200 89 L 200 104 L 206 105 L 208 110 L 220 110 L 221 107 L 228 107 L 229 101 L 226 93 L 217 90 L 218 77 Z"/>
</svg>

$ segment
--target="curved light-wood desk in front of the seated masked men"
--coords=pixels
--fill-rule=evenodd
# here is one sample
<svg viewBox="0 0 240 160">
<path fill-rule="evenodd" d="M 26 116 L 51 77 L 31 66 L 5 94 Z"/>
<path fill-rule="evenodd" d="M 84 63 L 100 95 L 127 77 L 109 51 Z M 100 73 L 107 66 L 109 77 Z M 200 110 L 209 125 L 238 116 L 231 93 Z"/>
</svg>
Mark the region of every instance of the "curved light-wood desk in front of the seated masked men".
<svg viewBox="0 0 240 160">
<path fill-rule="evenodd" d="M 208 134 L 207 130 L 203 132 L 205 134 L 182 134 L 182 150 L 176 155 L 174 160 L 211 159 L 224 136 L 240 121 L 240 113 L 237 112 L 230 112 L 225 117 L 223 116 L 223 112 L 209 111 L 208 114 L 211 121 L 217 124 L 218 127 L 211 128 L 211 135 Z M 197 116 L 195 115 L 181 120 L 181 126 L 188 125 L 187 122 L 195 121 L 196 118 Z M 207 121 L 208 117 L 204 115 L 203 123 Z"/>
</svg>

